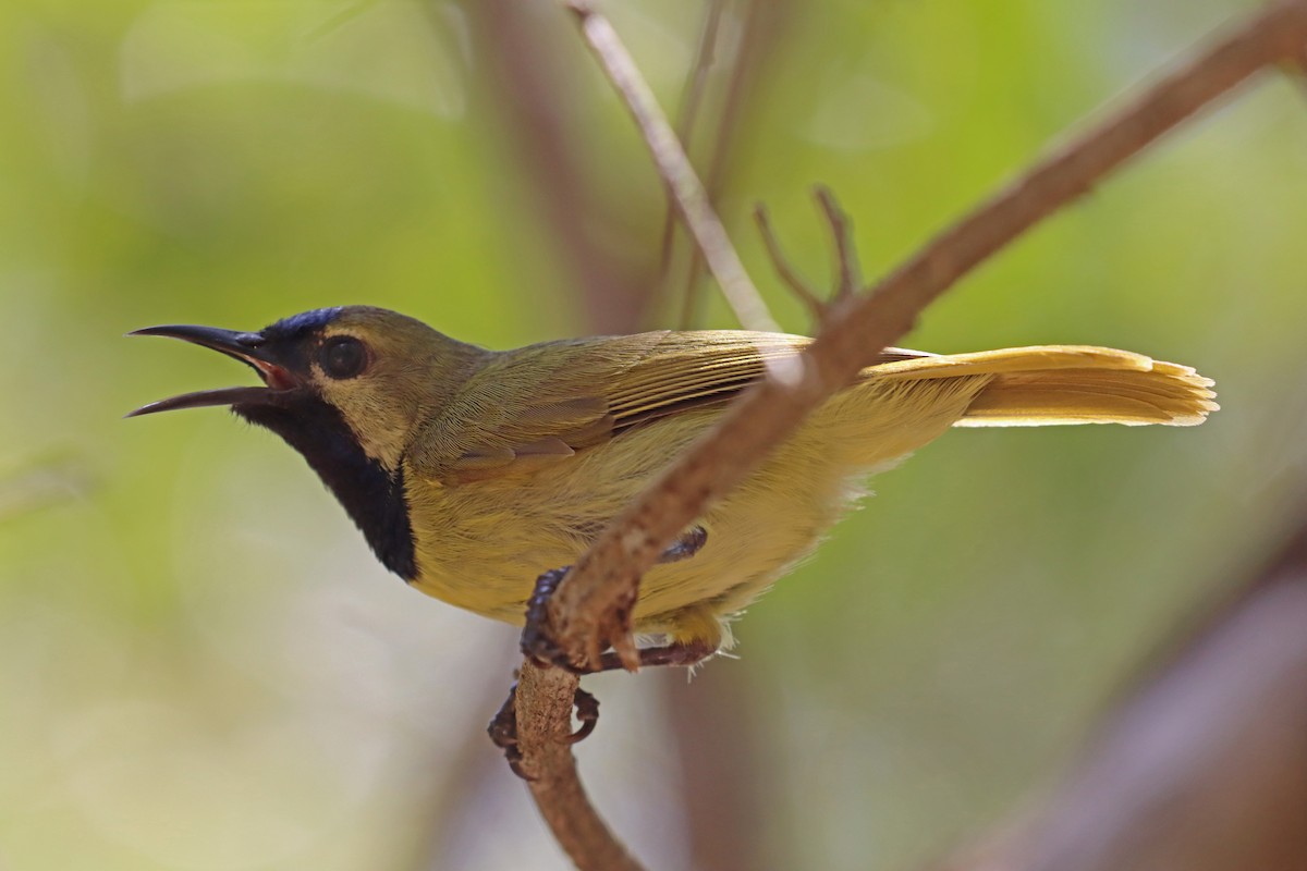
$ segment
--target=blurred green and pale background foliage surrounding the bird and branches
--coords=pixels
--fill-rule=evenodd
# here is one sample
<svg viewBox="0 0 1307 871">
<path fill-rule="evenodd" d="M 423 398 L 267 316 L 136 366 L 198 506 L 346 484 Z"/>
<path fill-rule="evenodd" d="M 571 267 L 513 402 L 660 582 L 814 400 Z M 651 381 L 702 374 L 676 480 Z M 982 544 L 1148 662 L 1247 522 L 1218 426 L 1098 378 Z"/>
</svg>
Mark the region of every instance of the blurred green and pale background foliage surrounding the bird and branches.
<svg viewBox="0 0 1307 871">
<path fill-rule="evenodd" d="M 608 3 L 682 102 L 707 7 Z M 694 135 L 825 281 L 878 274 L 1252 4 L 723 4 Z M 665 206 L 549 3 L 0 8 L 0 868 L 562 868 L 482 729 L 515 632 L 376 565 L 250 373 L 133 328 L 372 303 L 507 347 L 673 325 Z M 604 675 L 583 776 L 659 868 L 908 868 L 1055 782 L 1138 665 L 1255 565 L 1307 464 L 1307 104 L 1266 76 L 967 278 L 910 346 L 1193 364 L 1199 430 L 961 431 L 737 624 Z M 701 325 L 729 326 L 704 291 Z M 546 567 L 541 567 L 546 568 Z"/>
</svg>

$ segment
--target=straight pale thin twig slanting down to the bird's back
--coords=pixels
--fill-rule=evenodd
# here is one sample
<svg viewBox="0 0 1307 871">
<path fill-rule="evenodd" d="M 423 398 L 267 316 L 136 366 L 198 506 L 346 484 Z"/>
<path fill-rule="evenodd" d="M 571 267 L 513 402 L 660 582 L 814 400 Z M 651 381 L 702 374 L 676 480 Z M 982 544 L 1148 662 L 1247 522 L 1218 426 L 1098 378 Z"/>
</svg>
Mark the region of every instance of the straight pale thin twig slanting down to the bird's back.
<svg viewBox="0 0 1307 871">
<path fill-rule="evenodd" d="M 595 12 L 584 0 L 565 0 L 565 5 L 576 14 L 580 30 L 613 87 L 626 101 L 626 107 L 635 118 L 635 124 L 644 136 L 644 142 L 654 155 L 659 175 L 668 183 L 685 226 L 694 236 L 695 244 L 703 251 L 703 257 L 712 270 L 712 277 L 721 286 L 731 308 L 740 324 L 746 329 L 779 329 L 767 312 L 767 306 L 753 286 L 740 256 L 727 236 L 725 227 L 712 210 L 708 195 L 694 174 L 685 149 L 676 138 L 676 132 L 659 108 L 654 91 L 640 76 L 635 61 L 608 18 Z"/>
</svg>

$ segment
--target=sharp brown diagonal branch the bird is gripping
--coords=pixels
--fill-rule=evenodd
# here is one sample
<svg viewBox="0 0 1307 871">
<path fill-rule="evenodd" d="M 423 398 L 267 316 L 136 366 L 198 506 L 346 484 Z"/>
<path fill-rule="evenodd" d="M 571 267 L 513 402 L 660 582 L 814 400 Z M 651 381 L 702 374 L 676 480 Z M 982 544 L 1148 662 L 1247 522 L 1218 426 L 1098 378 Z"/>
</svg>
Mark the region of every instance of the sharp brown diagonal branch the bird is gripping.
<svg viewBox="0 0 1307 871">
<path fill-rule="evenodd" d="M 595 18 L 572 8 L 591 29 Z M 711 500 L 749 474 L 805 414 L 906 333 L 920 311 L 970 269 L 1263 67 L 1295 56 L 1303 43 L 1307 0 L 1253 17 L 933 239 L 873 294 L 839 304 L 792 370 L 769 373 L 742 396 L 582 556 L 549 605 L 557 641 L 578 663 L 597 663 L 612 645 L 634 667 L 629 618 L 639 578 Z M 654 150 L 655 159 L 665 154 Z M 678 144 L 672 150 L 684 157 Z M 634 867 L 576 777 L 567 743 L 575 686 L 557 670 L 524 666 L 518 691 L 521 768 L 536 778 L 536 802 L 579 866 Z"/>
</svg>

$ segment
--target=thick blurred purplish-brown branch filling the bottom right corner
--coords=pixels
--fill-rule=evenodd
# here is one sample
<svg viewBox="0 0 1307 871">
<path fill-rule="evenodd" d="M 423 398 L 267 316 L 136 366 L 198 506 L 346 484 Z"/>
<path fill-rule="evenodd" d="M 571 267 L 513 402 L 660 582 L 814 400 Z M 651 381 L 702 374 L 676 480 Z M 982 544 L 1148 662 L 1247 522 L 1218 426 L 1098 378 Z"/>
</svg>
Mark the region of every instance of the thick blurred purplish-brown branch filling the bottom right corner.
<svg viewBox="0 0 1307 871">
<path fill-rule="evenodd" d="M 1244 593 L 1038 816 L 946 867 L 1307 868 L 1307 526 Z"/>
</svg>

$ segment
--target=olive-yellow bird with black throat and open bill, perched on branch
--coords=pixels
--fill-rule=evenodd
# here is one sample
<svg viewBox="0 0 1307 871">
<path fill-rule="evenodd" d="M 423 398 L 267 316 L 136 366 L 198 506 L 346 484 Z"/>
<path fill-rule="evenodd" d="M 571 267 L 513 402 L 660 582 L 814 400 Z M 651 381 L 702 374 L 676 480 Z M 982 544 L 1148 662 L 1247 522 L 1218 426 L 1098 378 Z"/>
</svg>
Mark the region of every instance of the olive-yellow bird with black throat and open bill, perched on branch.
<svg viewBox="0 0 1307 871">
<path fill-rule="evenodd" d="M 263 384 L 128 417 L 230 406 L 303 454 L 380 563 L 418 590 L 521 626 L 536 578 L 574 563 L 677 453 L 802 336 L 657 330 L 495 351 L 370 306 L 259 332 L 150 326 L 252 367 Z M 695 659 L 813 552 L 886 470 L 950 427 L 1193 426 L 1218 409 L 1188 366 L 1082 345 L 929 354 L 890 347 L 642 580 L 633 628 Z"/>
</svg>

